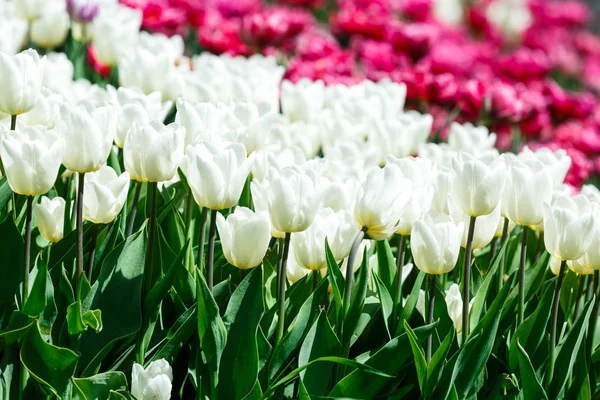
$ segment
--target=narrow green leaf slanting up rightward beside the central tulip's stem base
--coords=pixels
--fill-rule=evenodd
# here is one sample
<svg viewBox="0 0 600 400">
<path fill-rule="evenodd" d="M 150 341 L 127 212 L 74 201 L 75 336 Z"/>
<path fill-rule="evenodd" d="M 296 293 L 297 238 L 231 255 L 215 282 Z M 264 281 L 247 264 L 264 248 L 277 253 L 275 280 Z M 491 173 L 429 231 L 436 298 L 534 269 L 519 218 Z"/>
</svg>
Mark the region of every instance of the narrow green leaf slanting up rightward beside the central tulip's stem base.
<svg viewBox="0 0 600 400">
<path fill-rule="evenodd" d="M 281 369 L 289 362 L 289 357 L 302 344 L 305 333 L 317 317 L 321 296 L 325 293 L 325 290 L 327 290 L 327 281 L 323 279 L 315 291 L 304 301 L 298 314 L 283 335 L 283 338 L 273 349 L 273 355 L 269 363 L 270 380 L 275 379 L 279 375 Z"/>
</svg>

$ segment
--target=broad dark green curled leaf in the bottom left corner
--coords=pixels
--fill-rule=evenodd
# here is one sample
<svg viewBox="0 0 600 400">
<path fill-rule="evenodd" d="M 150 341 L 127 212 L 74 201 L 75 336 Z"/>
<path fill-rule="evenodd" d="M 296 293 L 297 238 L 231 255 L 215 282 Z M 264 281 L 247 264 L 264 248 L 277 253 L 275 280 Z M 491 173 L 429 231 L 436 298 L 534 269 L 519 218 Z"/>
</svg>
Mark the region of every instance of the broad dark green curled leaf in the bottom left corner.
<svg viewBox="0 0 600 400">
<path fill-rule="evenodd" d="M 78 358 L 69 349 L 44 342 L 37 325 L 29 330 L 21 343 L 21 362 L 31 377 L 59 398 L 70 393 Z"/>
</svg>

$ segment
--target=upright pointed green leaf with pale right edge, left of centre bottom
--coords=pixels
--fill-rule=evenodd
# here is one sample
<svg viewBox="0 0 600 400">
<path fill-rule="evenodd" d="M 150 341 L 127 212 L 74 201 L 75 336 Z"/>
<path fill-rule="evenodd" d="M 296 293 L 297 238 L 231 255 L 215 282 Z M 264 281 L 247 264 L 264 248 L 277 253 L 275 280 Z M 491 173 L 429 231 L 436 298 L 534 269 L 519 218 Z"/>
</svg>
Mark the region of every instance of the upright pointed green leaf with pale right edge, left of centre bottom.
<svg viewBox="0 0 600 400">
<path fill-rule="evenodd" d="M 198 337 L 206 357 L 206 363 L 212 373 L 212 388 L 216 389 L 219 363 L 227 341 L 227 329 L 219 315 L 219 307 L 200 272 L 196 274 L 196 279 L 196 290 L 198 290 Z"/>
</svg>

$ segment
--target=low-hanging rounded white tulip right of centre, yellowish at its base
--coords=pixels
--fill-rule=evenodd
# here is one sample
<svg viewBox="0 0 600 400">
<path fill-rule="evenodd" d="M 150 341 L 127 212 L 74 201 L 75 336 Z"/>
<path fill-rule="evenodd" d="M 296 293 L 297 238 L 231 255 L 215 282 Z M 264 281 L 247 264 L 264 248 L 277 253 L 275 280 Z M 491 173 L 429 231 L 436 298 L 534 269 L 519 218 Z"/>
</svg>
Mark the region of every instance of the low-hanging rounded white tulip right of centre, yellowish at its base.
<svg viewBox="0 0 600 400">
<path fill-rule="evenodd" d="M 417 268 L 440 275 L 454 269 L 460 251 L 464 224 L 430 211 L 417 221 L 410 234 L 410 248 Z"/>
</svg>

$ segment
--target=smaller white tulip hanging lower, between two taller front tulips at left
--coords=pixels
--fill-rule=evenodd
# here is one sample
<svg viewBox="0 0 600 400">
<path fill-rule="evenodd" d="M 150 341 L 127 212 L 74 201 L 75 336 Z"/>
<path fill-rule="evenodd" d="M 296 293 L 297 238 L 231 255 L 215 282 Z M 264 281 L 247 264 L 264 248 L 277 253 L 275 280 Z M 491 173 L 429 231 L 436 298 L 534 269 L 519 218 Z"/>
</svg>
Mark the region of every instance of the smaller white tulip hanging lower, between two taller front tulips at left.
<svg viewBox="0 0 600 400">
<path fill-rule="evenodd" d="M 109 166 L 85 176 L 83 218 L 95 224 L 108 224 L 121 212 L 129 191 L 129 173 L 117 175 Z"/>
</svg>

